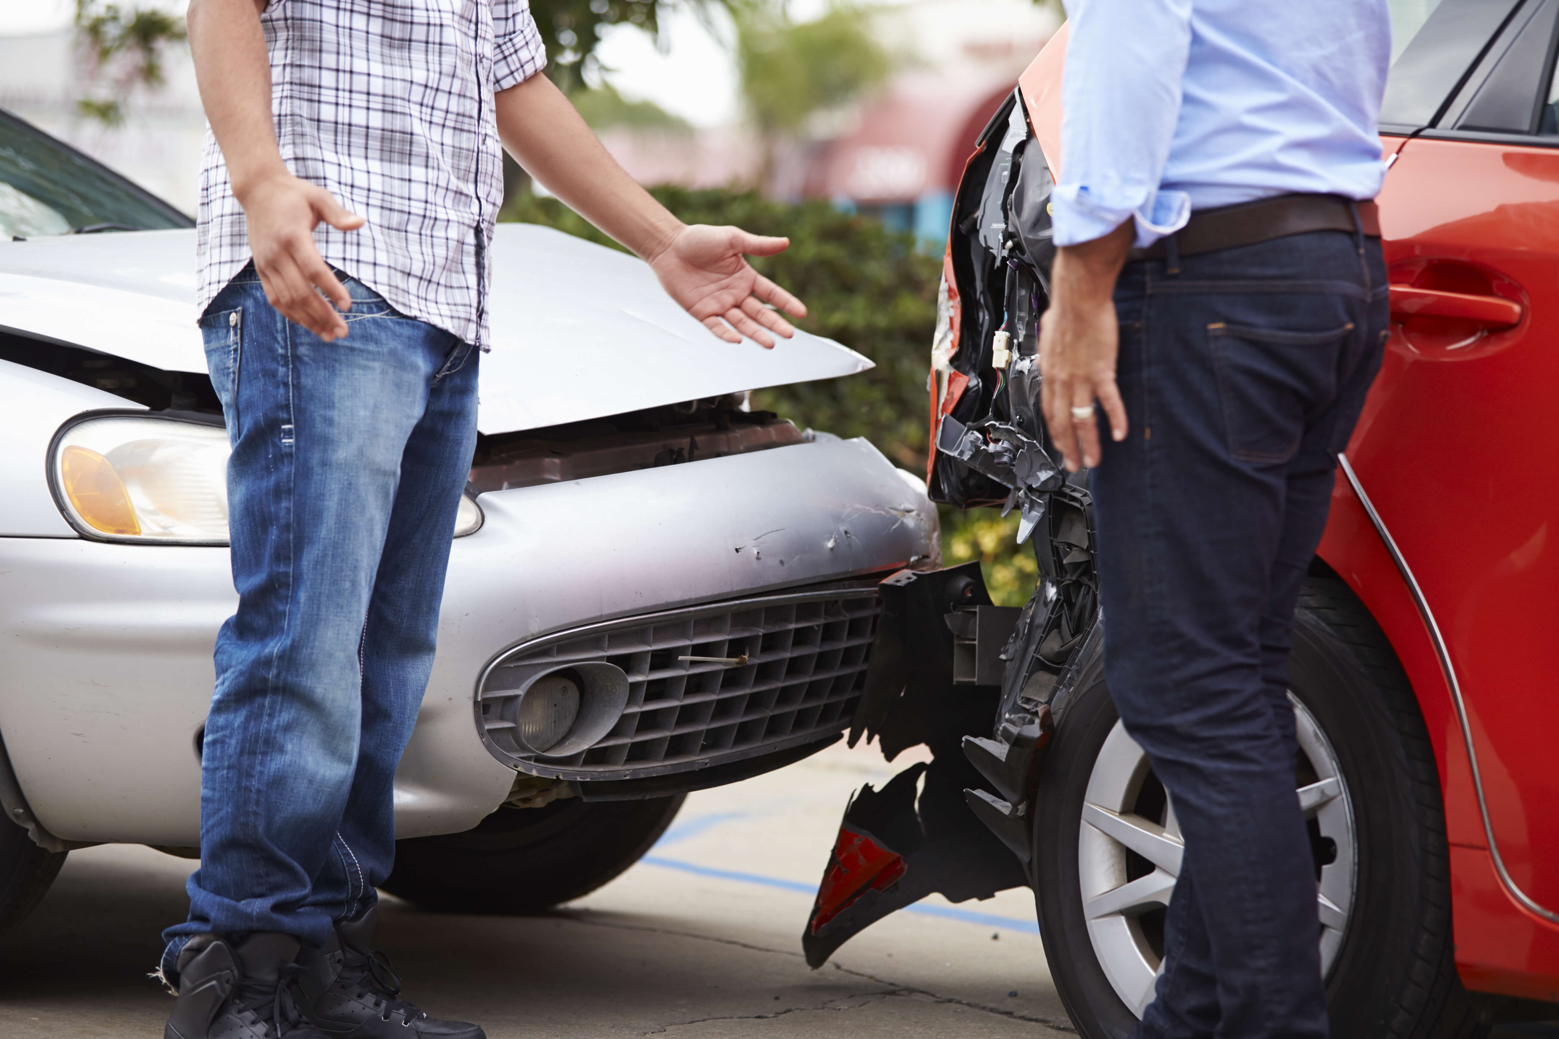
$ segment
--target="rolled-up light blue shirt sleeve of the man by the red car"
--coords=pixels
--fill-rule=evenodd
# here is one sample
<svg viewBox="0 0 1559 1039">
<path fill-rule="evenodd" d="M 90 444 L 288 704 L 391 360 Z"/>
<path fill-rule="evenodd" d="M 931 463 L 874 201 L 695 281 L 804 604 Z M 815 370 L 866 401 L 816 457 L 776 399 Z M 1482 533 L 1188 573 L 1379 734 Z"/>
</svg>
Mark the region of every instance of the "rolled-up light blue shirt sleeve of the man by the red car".
<svg viewBox="0 0 1559 1039">
<path fill-rule="evenodd" d="M 1185 192 L 1163 192 L 1191 50 L 1191 0 L 1066 0 L 1062 176 L 1055 245 L 1101 238 L 1126 220 L 1137 246 L 1191 218 Z"/>
</svg>

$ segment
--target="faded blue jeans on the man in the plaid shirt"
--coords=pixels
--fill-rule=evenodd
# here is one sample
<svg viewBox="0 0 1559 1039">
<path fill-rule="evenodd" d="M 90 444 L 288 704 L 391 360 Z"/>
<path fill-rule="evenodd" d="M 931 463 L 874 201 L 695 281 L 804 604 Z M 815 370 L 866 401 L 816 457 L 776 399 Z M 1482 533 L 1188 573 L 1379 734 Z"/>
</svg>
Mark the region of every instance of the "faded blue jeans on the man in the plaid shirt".
<svg viewBox="0 0 1559 1039">
<path fill-rule="evenodd" d="M 479 352 L 362 282 L 324 343 L 253 265 L 201 316 L 232 442 L 239 612 L 217 636 L 201 866 L 162 969 L 204 932 L 321 946 L 394 858 L 394 770 L 433 665 L 477 436 Z"/>
</svg>

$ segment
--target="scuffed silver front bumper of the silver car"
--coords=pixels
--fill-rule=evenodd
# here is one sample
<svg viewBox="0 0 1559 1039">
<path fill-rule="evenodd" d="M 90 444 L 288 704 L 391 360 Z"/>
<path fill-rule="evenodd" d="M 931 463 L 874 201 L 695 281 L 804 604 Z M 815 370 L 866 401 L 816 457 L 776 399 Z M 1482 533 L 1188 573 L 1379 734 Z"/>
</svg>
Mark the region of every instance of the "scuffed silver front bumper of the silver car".
<svg viewBox="0 0 1559 1039">
<path fill-rule="evenodd" d="M 934 565 L 937 514 L 906 475 L 865 441 L 826 439 L 483 494 L 486 522 L 452 545 L 438 654 L 396 770 L 398 836 L 471 829 L 511 796 L 524 770 L 472 718 L 485 668 L 511 650 Z M 234 603 L 220 547 L 0 537 L 0 732 L 48 832 L 198 843 L 195 740 Z"/>
</svg>

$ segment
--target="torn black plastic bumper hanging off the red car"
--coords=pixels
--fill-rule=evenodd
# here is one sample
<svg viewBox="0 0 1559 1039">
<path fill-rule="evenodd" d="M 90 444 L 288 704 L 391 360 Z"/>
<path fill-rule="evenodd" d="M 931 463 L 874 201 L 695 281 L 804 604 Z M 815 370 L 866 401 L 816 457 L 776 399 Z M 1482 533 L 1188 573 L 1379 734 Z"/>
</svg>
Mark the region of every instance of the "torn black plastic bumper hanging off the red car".
<svg viewBox="0 0 1559 1039">
<path fill-rule="evenodd" d="M 875 738 L 889 760 L 924 743 L 932 760 L 845 808 L 801 936 L 814 967 L 928 894 L 965 902 L 1030 883 L 1045 748 L 1102 643 L 1088 492 L 1065 483 L 1041 506 L 1041 581 L 1021 609 L 993 606 L 974 562 L 881 586 L 850 741 Z"/>
</svg>

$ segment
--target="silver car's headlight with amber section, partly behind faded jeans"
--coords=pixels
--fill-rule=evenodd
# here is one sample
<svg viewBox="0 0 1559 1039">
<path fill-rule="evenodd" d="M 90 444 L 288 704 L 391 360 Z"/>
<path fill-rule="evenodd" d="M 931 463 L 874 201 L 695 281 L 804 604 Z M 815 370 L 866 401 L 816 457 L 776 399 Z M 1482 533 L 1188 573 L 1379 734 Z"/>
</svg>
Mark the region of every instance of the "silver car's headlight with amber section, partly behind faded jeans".
<svg viewBox="0 0 1559 1039">
<path fill-rule="evenodd" d="M 48 477 L 59 511 L 100 541 L 228 544 L 228 431 L 181 419 L 89 417 L 55 438 Z M 482 527 L 460 497 L 455 537 Z"/>
</svg>

